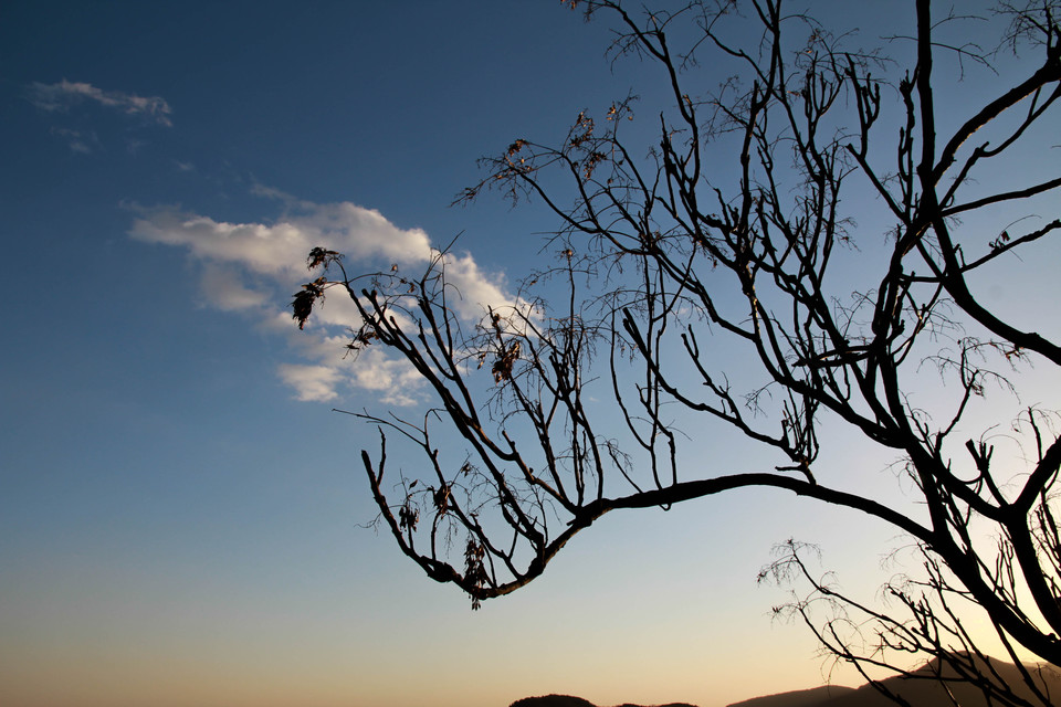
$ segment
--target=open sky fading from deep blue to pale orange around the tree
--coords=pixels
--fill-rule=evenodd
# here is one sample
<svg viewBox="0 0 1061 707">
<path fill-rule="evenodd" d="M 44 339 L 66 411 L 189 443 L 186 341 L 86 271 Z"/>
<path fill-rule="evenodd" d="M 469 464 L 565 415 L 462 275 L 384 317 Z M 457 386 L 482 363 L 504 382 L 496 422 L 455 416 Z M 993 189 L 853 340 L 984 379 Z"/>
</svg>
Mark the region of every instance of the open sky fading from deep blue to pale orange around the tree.
<svg viewBox="0 0 1061 707">
<path fill-rule="evenodd" d="M 853 7 L 852 28 L 902 21 Z M 464 314 L 508 300 L 555 221 L 451 202 L 479 157 L 631 89 L 654 127 L 652 67 L 608 43 L 551 1 L 0 3 L 0 703 L 721 707 L 826 679 L 756 574 L 796 537 L 872 595 L 894 529 L 763 490 L 614 514 L 472 612 L 366 527 L 376 433 L 333 412 L 422 387 L 337 356 L 337 298 L 308 333 L 286 310 L 321 242 L 416 270 L 460 236 Z M 1038 282 L 985 292 L 1055 327 Z M 831 449 L 900 498 L 891 460 Z"/>
</svg>

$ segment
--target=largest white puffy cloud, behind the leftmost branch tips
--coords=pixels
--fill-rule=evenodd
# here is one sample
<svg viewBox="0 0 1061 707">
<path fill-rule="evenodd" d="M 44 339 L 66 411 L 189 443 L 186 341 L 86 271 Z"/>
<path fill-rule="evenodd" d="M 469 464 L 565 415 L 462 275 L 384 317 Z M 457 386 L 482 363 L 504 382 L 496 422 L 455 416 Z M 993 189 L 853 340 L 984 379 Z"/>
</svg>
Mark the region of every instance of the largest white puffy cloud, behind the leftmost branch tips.
<svg viewBox="0 0 1061 707">
<path fill-rule="evenodd" d="M 138 209 L 129 234 L 137 240 L 180 247 L 202 264 L 203 298 L 211 306 L 239 312 L 269 331 L 286 336 L 302 362 L 285 362 L 280 378 L 300 400 L 335 401 L 345 393 L 371 393 L 390 404 L 411 404 L 421 382 L 403 361 L 368 349 L 351 360 L 346 328 L 358 323 L 347 297 L 328 297 L 306 331 L 291 317 L 293 293 L 307 279 L 306 255 L 324 246 L 346 254 L 365 272 L 391 264 L 422 273 L 438 256 L 421 229 L 400 229 L 379 211 L 350 202 L 313 203 L 263 187 L 255 193 L 281 200 L 283 218 L 271 222 L 230 223 L 177 208 Z M 514 302 L 504 282 L 484 273 L 470 254 L 449 254 L 447 278 L 462 293 L 459 316 L 473 320 L 486 305 Z"/>
</svg>

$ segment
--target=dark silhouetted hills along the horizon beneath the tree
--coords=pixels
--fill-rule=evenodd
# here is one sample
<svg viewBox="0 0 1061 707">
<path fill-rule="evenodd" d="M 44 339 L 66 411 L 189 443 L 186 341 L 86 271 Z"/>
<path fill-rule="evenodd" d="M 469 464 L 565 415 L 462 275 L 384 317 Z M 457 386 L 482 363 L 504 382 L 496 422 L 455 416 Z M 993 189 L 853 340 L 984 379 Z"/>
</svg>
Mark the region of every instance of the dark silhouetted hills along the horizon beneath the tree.
<svg viewBox="0 0 1061 707">
<path fill-rule="evenodd" d="M 952 697 L 947 695 L 949 688 L 953 699 L 962 707 L 989 707 L 983 693 L 974 685 L 958 680 L 948 682 L 947 688 L 933 679 L 932 676 L 937 673 L 936 661 L 926 664 L 924 667 L 913 672 L 913 677 L 890 677 L 881 684 L 892 693 L 902 696 L 911 707 L 937 707 L 939 705 L 950 705 Z M 1010 663 L 991 659 L 991 668 L 1008 685 L 1012 686 L 1015 692 L 1026 697 L 1027 688 L 1023 687 L 1018 668 Z M 946 672 L 944 672 L 946 676 Z M 1043 671 L 1037 675 L 1037 680 L 1044 686 L 1050 695 L 1061 695 L 1061 675 L 1055 672 Z M 1030 696 L 1030 693 L 1029 695 Z M 790 693 L 780 693 L 778 695 L 768 695 L 765 697 L 753 697 L 739 703 L 733 703 L 729 707 L 894 707 L 895 703 L 882 695 L 872 685 L 863 685 L 858 689 L 853 687 L 843 687 L 839 685 L 824 685 L 811 689 L 800 689 Z M 591 701 L 581 697 L 570 697 L 568 695 L 547 695 L 545 697 L 526 697 L 512 703 L 510 707 L 597 707 Z M 640 707 L 638 705 L 624 704 L 619 707 Z M 670 703 L 659 705 L 658 707 L 695 707 L 686 703 Z"/>
</svg>

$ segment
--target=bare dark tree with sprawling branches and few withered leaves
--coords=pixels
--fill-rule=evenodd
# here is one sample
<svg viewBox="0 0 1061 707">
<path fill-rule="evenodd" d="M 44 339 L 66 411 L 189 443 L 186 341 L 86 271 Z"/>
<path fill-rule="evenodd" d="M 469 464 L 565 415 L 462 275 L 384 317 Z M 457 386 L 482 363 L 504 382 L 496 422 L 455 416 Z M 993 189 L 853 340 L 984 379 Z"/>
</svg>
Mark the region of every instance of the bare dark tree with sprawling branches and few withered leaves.
<svg viewBox="0 0 1061 707">
<path fill-rule="evenodd" d="M 990 668 L 962 629 L 966 604 L 990 618 L 1018 665 L 1027 653 L 1061 665 L 1057 426 L 1026 408 L 1031 449 L 1006 458 L 989 434 L 1016 409 L 983 435 L 966 429 L 994 384 L 1019 393 L 1028 366 L 1061 366 L 1058 342 L 992 308 L 975 283 L 1061 229 L 1061 176 L 1016 168 L 1057 147 L 1055 0 L 999 6 L 987 18 L 998 45 L 986 49 L 950 39 L 971 20 L 912 0 L 915 30 L 887 51 L 857 50 L 781 0 L 568 4 L 607 13 L 614 55 L 656 64 L 668 99 L 648 145 L 628 98 L 596 119 L 579 114 L 558 147 L 517 139 L 483 160 L 485 178 L 460 200 L 500 189 L 544 203 L 560 223 L 558 264 L 475 325 L 455 312 L 445 253 L 410 277 L 350 274 L 340 254 L 316 249 L 308 265 L 324 272 L 295 296 L 302 326 L 330 288 L 344 291 L 361 317 L 351 350 L 385 347 L 434 395 L 419 421 L 361 414 L 379 429 L 379 451 L 363 461 L 402 552 L 477 606 L 538 577 L 611 510 L 787 489 L 880 518 L 923 553 L 920 579 L 887 585 L 891 613 L 816 578 L 795 544 L 764 571 L 809 581 L 789 610 L 842 659 L 869 671 L 897 666 L 896 652 L 927 653 L 979 680 Z M 1012 56 L 1019 77 L 990 73 Z M 702 85 L 708 61 L 733 77 Z M 990 95 L 960 116 L 942 112 L 941 91 L 953 95 L 973 70 L 997 84 Z M 977 225 L 1000 218 L 1005 230 Z M 534 296 L 561 287 L 549 302 Z M 738 368 L 726 368 L 731 354 Z M 947 383 L 932 414 L 914 389 L 926 363 Z M 901 457 L 917 504 L 818 478 L 823 425 Z M 694 456 L 687 432 L 712 426 L 775 462 L 747 472 Z M 466 456 L 440 453 L 440 428 Z M 388 434 L 422 451 L 426 475 L 387 475 Z M 821 623 L 820 601 L 844 613 Z M 984 693 L 1049 704 L 1046 683 L 1021 671 L 1025 686 L 987 675 Z"/>
</svg>

